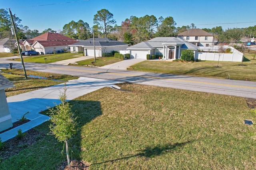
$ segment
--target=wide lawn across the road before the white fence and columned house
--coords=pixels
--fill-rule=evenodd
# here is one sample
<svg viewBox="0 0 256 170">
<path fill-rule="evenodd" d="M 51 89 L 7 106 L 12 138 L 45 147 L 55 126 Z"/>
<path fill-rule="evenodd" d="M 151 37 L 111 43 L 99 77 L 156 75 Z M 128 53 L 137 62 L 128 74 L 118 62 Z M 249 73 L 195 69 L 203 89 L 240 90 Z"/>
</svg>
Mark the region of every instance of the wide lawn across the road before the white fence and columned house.
<svg viewBox="0 0 256 170">
<path fill-rule="evenodd" d="M 244 53 L 250 59 L 246 62 L 200 61 L 200 62 L 173 62 L 150 60 L 132 65 L 130 70 L 148 71 L 155 73 L 168 73 L 179 75 L 192 75 L 199 77 L 212 77 L 220 79 L 236 79 L 256 81 L 256 60 L 253 60 L 255 52 Z M 243 64 L 243 65 L 241 65 Z M 219 67 L 216 67 L 216 66 Z"/>
</svg>

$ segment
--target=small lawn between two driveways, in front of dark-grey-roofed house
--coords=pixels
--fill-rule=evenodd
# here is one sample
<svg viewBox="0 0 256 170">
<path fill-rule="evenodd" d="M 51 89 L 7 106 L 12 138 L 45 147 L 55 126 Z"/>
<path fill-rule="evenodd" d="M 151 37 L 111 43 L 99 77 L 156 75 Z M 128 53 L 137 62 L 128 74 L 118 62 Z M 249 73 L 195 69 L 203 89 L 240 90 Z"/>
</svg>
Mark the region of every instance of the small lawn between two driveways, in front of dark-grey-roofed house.
<svg viewBox="0 0 256 170">
<path fill-rule="evenodd" d="M 97 57 L 96 58 L 96 62 L 94 63 L 96 66 L 104 66 L 104 65 L 109 65 L 112 63 L 116 63 L 118 61 L 122 61 L 121 59 L 115 58 L 114 56 L 108 56 L 108 57 Z M 93 65 L 92 62 L 94 62 L 94 58 L 93 59 L 86 59 L 83 61 L 77 61 L 76 63 L 78 63 L 75 66 L 85 66 L 85 65 Z M 70 64 L 70 65 L 74 65 L 74 64 Z"/>
</svg>

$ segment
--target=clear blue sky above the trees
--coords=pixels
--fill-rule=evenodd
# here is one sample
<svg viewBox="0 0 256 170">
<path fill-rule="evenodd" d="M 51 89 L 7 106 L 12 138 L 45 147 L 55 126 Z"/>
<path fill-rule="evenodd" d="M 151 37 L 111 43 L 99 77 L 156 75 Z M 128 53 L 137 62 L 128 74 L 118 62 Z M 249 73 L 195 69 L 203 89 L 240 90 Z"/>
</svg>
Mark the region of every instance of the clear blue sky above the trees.
<svg viewBox="0 0 256 170">
<path fill-rule="evenodd" d="M 193 23 L 196 28 L 246 28 L 256 25 L 255 7 L 256 0 L 0 0 L 0 8 L 10 8 L 23 26 L 39 32 L 60 31 L 72 20 L 92 27 L 101 9 L 109 10 L 118 26 L 130 16 L 154 15 L 172 16 L 176 27 Z"/>
</svg>

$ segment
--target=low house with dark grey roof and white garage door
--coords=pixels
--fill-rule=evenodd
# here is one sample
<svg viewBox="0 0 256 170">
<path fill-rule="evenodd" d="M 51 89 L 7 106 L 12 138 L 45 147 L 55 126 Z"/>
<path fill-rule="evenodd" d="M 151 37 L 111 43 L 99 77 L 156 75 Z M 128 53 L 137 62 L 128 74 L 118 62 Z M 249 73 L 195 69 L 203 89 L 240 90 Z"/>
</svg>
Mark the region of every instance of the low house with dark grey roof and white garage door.
<svg viewBox="0 0 256 170">
<path fill-rule="evenodd" d="M 96 57 L 102 57 L 104 53 L 111 53 L 112 51 L 124 50 L 128 47 L 127 43 L 119 42 L 109 38 L 89 38 L 69 45 L 71 53 L 84 52 L 85 56 L 94 56 L 94 43 Z"/>
</svg>

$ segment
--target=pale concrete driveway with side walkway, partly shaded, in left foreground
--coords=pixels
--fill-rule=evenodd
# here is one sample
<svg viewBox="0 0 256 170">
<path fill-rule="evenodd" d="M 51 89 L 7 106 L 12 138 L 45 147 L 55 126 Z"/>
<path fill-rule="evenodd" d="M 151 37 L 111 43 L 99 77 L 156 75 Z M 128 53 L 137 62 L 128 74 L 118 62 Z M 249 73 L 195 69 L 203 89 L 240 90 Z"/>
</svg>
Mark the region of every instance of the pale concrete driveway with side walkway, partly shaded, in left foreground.
<svg viewBox="0 0 256 170">
<path fill-rule="evenodd" d="M 66 91 L 67 100 L 75 99 L 103 87 L 117 88 L 117 86 L 114 85 L 115 83 L 121 82 L 87 77 L 80 77 L 79 79 L 68 81 L 66 83 L 66 87 L 68 88 Z M 63 91 L 63 87 L 64 83 L 7 97 L 10 114 L 12 116 L 12 123 L 21 119 L 27 112 L 29 113 L 26 114 L 25 117 L 30 121 L 0 134 L 2 142 L 15 137 L 16 134 L 18 134 L 19 129 L 21 129 L 22 132 L 26 132 L 45 121 L 48 121 L 50 117 L 42 115 L 40 112 L 48 109 L 48 107 L 54 107 L 54 103 L 60 103 L 58 98 L 60 91 Z"/>
</svg>

